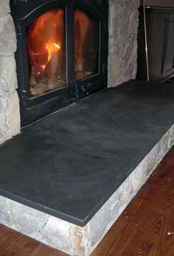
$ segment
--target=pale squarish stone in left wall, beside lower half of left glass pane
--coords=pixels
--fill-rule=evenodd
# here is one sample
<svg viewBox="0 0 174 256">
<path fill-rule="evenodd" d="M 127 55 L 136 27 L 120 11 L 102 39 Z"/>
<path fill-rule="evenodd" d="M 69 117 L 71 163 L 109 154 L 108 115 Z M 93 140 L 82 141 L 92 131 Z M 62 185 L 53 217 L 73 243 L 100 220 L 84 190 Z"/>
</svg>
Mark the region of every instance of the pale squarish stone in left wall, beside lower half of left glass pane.
<svg viewBox="0 0 174 256">
<path fill-rule="evenodd" d="M 0 57 L 0 82 L 6 92 L 17 89 L 15 56 Z"/>
</svg>

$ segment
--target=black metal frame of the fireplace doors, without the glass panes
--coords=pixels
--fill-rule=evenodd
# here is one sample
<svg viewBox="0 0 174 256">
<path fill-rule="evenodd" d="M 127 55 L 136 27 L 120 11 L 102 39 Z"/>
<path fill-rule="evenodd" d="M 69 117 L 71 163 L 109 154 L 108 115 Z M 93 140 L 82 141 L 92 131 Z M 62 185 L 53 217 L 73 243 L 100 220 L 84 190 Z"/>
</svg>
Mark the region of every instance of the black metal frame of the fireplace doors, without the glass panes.
<svg viewBox="0 0 174 256">
<path fill-rule="evenodd" d="M 40 119 L 95 91 L 107 86 L 108 62 L 108 2 L 107 0 L 12 0 L 10 1 L 17 34 L 15 53 L 18 75 L 18 95 L 21 106 L 21 125 Z M 66 74 L 67 86 L 41 96 L 29 97 L 29 61 L 27 54 L 27 27 L 39 15 L 58 7 L 66 13 Z M 74 79 L 74 8 L 85 10 L 97 18 L 100 24 L 100 51 L 97 75 L 84 80 Z"/>
</svg>

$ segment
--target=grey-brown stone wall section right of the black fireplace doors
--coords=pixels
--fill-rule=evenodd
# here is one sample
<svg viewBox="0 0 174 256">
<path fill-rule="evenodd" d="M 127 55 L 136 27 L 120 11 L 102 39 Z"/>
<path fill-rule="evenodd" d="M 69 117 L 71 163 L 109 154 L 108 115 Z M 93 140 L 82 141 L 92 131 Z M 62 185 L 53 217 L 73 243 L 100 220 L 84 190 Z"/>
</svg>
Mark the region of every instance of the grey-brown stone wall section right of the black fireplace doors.
<svg viewBox="0 0 174 256">
<path fill-rule="evenodd" d="M 109 0 L 108 86 L 136 77 L 138 0 Z"/>
</svg>

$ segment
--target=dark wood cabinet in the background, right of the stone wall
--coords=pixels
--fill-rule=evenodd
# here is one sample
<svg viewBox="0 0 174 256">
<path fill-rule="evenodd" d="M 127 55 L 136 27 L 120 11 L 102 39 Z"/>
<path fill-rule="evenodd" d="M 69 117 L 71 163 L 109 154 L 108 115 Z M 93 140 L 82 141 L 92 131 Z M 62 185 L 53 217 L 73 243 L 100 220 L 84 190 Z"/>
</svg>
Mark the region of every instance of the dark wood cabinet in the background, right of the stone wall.
<svg viewBox="0 0 174 256">
<path fill-rule="evenodd" d="M 174 75 L 174 9 L 147 7 L 147 51 L 150 80 L 165 80 Z M 145 30 L 140 8 L 137 78 L 146 79 Z M 144 67 L 142 68 L 141 65 Z"/>
</svg>

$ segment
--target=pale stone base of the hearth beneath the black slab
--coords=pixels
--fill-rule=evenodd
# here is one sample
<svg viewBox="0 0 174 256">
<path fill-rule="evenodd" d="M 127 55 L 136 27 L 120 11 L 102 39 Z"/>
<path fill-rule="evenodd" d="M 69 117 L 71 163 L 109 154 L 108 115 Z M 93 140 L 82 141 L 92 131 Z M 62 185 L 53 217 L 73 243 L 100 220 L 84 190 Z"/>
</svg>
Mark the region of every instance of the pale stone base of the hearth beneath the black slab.
<svg viewBox="0 0 174 256">
<path fill-rule="evenodd" d="M 69 255 L 89 256 L 174 144 L 174 125 L 84 227 L 0 196 L 0 222 Z"/>
</svg>

